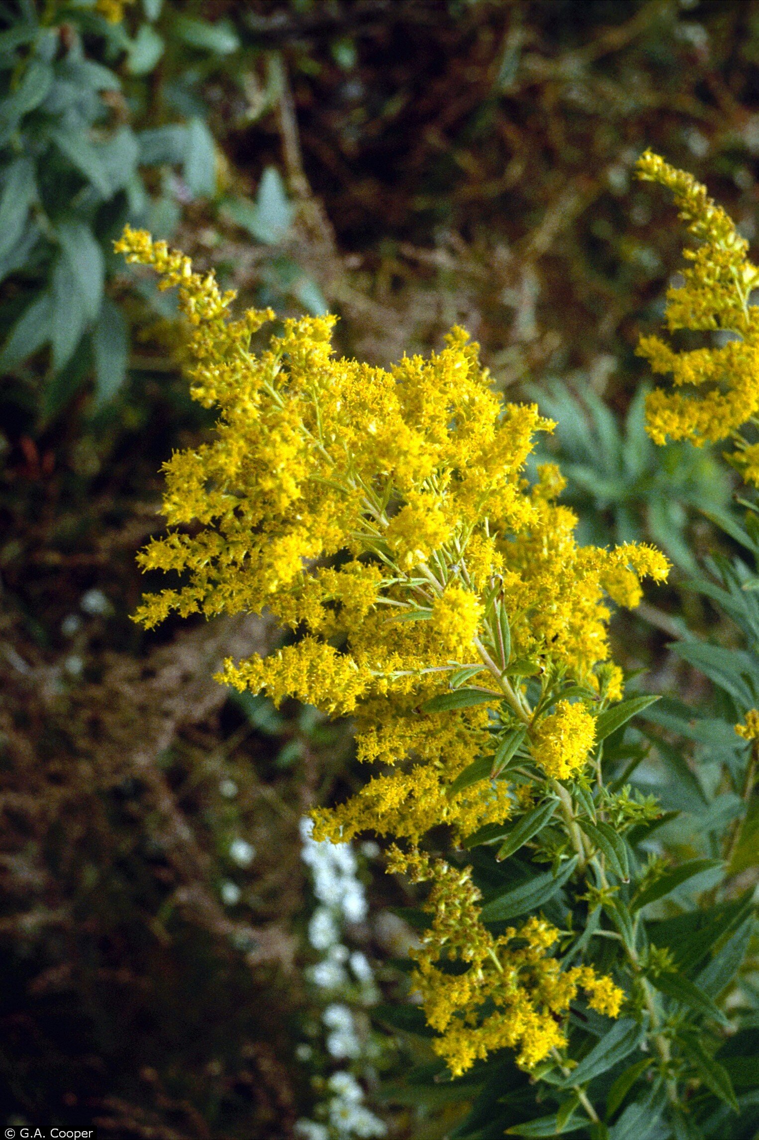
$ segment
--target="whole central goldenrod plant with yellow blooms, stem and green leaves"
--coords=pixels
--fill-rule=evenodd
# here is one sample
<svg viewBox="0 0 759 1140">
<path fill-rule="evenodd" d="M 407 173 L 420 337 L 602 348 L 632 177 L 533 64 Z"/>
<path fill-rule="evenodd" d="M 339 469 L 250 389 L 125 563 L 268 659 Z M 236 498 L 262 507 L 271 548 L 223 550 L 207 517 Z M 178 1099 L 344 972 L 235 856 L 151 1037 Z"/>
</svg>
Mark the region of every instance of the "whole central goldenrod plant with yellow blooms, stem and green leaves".
<svg viewBox="0 0 759 1140">
<path fill-rule="evenodd" d="M 475 1100 L 455 1134 L 709 1134 L 738 1108 L 713 1051 L 751 901 L 719 896 L 716 855 L 663 857 L 670 815 L 630 785 L 646 749 L 625 739 L 655 698 L 625 699 L 607 637 L 664 555 L 578 544 L 557 467 L 524 474 L 554 425 L 493 393 L 463 329 L 372 367 L 334 355 L 333 317 L 267 340 L 271 311 L 231 319 L 165 243 L 126 228 L 116 249 L 178 288 L 219 414 L 165 464 L 169 534 L 140 561 L 177 583 L 137 618 L 266 609 L 287 644 L 220 682 L 352 718 L 378 771 L 313 837 L 383 837 L 424 885 L 410 986 L 436 1081 Z"/>
</svg>

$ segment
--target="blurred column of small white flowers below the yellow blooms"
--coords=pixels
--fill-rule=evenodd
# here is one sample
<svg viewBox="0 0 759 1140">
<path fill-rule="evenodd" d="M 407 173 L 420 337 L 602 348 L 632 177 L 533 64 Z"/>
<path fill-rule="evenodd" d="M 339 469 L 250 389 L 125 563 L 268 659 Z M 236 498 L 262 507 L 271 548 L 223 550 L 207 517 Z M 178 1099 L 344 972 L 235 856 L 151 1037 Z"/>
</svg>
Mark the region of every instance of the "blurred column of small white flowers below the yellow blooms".
<svg viewBox="0 0 759 1140">
<path fill-rule="evenodd" d="M 311 869 L 319 903 L 309 922 L 309 942 L 323 954 L 309 977 L 321 990 L 340 992 L 358 987 L 361 1002 L 368 1005 L 377 1000 L 372 967 L 360 950 L 351 952 L 341 940 L 343 922 L 360 922 L 368 910 L 364 886 L 357 877 L 356 855 L 350 844 L 316 842 L 312 830 L 311 820 L 301 820 L 302 857 Z M 332 1001 L 321 1020 L 329 1054 L 335 1060 L 360 1061 L 365 1045 L 351 1008 Z M 328 1123 L 299 1121 L 295 1129 L 303 1140 L 369 1140 L 385 1134 L 384 1122 L 364 1105 L 364 1090 L 354 1076 L 334 1073 L 327 1086 L 330 1097 L 324 1113 Z"/>
</svg>

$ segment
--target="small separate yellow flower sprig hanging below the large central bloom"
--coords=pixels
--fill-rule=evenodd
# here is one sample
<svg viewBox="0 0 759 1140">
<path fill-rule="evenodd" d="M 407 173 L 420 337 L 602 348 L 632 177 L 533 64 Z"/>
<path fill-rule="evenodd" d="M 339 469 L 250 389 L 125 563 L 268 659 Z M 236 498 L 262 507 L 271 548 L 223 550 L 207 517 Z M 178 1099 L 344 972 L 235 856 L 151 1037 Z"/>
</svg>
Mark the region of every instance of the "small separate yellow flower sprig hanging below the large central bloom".
<svg viewBox="0 0 759 1140">
<path fill-rule="evenodd" d="M 558 931 L 544 919 L 530 918 L 519 928 L 492 935 L 480 921 L 480 891 L 471 869 L 457 870 L 440 860 L 391 852 L 392 871 L 415 882 L 432 880 L 425 910 L 434 917 L 411 950 L 413 985 L 422 995 L 430 1025 L 441 1034 L 432 1047 L 454 1076 L 495 1049 L 517 1050 L 517 1064 L 533 1068 L 553 1049 L 565 1044 L 562 1015 L 582 987 L 593 1009 L 617 1017 L 625 994 L 611 978 L 591 967 L 561 970 L 548 955 Z M 443 963 L 466 963 L 452 974 Z"/>
</svg>

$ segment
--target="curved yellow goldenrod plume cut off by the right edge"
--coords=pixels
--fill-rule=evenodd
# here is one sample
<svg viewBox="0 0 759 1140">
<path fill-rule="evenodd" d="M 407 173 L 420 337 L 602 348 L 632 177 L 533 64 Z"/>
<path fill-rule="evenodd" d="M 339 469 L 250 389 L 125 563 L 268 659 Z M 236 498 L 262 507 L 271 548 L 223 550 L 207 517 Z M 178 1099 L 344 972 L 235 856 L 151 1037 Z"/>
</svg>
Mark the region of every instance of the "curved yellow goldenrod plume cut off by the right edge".
<svg viewBox="0 0 759 1140">
<path fill-rule="evenodd" d="M 672 192 L 680 218 L 697 242 L 686 250 L 691 264 L 684 284 L 667 293 L 670 333 L 691 329 L 726 334 L 720 344 L 678 350 L 659 336 L 643 336 L 638 353 L 655 373 L 670 373 L 674 391 L 655 389 L 647 399 L 647 430 L 656 443 L 689 439 L 696 446 L 732 439 L 731 461 L 744 479 L 759 486 L 759 446 L 740 429 L 759 413 L 759 308 L 749 303 L 759 285 L 759 269 L 749 245 L 727 213 L 692 174 L 670 166 L 647 150 L 638 177 Z"/>
</svg>

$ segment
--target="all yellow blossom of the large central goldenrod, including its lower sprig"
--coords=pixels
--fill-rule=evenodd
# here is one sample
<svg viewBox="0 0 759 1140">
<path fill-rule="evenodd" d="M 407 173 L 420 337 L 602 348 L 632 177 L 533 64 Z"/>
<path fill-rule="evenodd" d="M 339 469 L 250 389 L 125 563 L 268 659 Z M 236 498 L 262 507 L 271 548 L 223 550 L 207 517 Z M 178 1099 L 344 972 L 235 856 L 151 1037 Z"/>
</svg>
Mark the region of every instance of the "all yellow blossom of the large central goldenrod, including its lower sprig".
<svg viewBox="0 0 759 1140">
<path fill-rule="evenodd" d="M 126 229 L 116 249 L 178 286 L 191 391 L 219 410 L 211 442 L 165 464 L 170 530 L 141 563 L 177 584 L 138 619 L 267 608 L 289 630 L 289 644 L 227 661 L 220 679 L 353 717 L 359 759 L 379 768 L 315 813 L 315 837 L 407 842 L 394 865 L 432 876 L 433 929 L 472 963 L 455 978 L 435 969 L 440 942 L 418 960 L 441 1050 L 456 1072 L 507 1043 L 534 1064 L 563 1041 L 554 1015 L 579 985 L 610 1013 L 621 992 L 562 972 L 539 920 L 520 931 L 525 950 L 509 945 L 516 933 L 493 939 L 466 876 L 425 863 L 418 844 L 441 823 L 460 839 L 529 805 L 530 785 L 497 773 L 456 783 L 509 733 L 522 734 L 523 780 L 545 788 L 582 769 L 594 712 L 621 695 L 606 598 L 636 605 L 639 577 L 662 580 L 666 560 L 577 545 L 576 516 L 553 502 L 556 469 L 533 487 L 523 474 L 534 432 L 553 425 L 503 404 L 462 329 L 390 369 L 336 358 L 332 317 L 286 320 L 254 351 L 271 312 L 230 319 L 213 275 L 146 233 Z M 481 1020 L 490 1001 L 499 1012 Z"/>
</svg>

